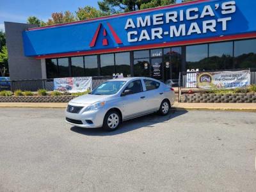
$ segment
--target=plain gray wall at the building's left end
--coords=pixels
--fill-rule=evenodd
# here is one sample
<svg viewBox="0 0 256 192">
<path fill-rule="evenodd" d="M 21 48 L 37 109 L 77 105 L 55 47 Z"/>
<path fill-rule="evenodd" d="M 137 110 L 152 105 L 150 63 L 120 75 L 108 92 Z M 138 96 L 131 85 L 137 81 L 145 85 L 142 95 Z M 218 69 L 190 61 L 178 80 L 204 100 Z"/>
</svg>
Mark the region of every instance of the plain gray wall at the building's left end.
<svg viewBox="0 0 256 192">
<path fill-rule="evenodd" d="M 41 60 L 24 56 L 22 31 L 36 25 L 4 22 L 11 80 L 41 79 Z"/>
</svg>

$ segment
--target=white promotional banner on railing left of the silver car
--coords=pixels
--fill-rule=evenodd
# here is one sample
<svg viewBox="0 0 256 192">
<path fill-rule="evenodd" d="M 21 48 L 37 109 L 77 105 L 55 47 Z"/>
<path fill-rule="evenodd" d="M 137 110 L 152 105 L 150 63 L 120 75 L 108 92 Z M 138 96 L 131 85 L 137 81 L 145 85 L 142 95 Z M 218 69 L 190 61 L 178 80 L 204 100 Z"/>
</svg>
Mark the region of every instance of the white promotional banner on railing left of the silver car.
<svg viewBox="0 0 256 192">
<path fill-rule="evenodd" d="M 54 90 L 58 92 L 86 92 L 92 90 L 92 77 L 65 77 L 53 80 Z"/>
</svg>

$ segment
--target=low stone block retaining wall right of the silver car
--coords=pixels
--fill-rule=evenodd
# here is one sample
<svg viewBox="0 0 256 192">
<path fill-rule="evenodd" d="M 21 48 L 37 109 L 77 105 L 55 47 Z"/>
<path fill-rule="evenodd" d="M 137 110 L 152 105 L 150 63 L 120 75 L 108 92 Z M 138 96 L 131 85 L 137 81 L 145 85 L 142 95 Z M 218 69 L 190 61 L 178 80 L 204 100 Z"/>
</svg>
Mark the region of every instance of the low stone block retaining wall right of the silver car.
<svg viewBox="0 0 256 192">
<path fill-rule="evenodd" d="M 209 103 L 256 103 L 256 93 L 236 93 L 236 94 L 214 94 L 214 93 L 195 93 L 183 94 L 181 102 L 209 102 Z"/>
</svg>

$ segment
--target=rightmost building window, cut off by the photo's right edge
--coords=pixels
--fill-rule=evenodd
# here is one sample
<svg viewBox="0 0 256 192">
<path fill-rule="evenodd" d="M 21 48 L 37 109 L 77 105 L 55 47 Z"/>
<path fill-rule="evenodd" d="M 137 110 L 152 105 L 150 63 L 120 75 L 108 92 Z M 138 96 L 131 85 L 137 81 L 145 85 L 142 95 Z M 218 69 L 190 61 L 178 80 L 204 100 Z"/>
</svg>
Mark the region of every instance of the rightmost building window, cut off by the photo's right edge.
<svg viewBox="0 0 256 192">
<path fill-rule="evenodd" d="M 234 58 L 236 68 L 256 68 L 256 39 L 236 41 Z"/>
</svg>

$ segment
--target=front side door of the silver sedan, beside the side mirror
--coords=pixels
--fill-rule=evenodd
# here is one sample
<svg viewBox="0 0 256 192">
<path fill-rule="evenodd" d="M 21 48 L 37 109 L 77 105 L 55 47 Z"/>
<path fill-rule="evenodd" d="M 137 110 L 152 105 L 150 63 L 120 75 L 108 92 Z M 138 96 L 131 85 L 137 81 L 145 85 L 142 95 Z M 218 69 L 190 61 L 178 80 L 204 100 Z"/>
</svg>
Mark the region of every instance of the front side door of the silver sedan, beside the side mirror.
<svg viewBox="0 0 256 192">
<path fill-rule="evenodd" d="M 147 104 L 141 80 L 132 81 L 125 87 L 123 93 L 125 90 L 131 90 L 132 93 L 125 96 L 121 95 L 124 119 L 143 115 L 147 111 Z"/>
</svg>

